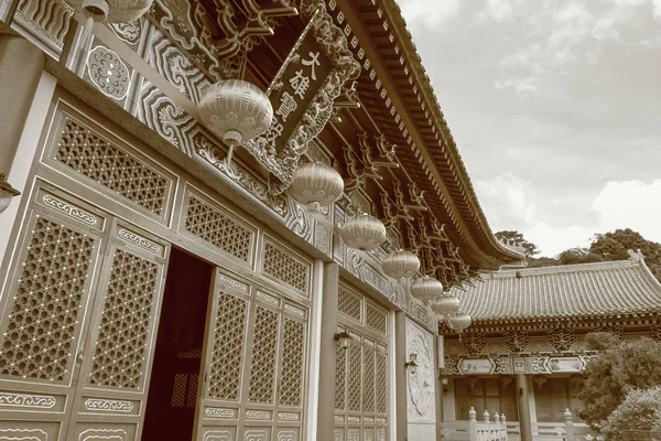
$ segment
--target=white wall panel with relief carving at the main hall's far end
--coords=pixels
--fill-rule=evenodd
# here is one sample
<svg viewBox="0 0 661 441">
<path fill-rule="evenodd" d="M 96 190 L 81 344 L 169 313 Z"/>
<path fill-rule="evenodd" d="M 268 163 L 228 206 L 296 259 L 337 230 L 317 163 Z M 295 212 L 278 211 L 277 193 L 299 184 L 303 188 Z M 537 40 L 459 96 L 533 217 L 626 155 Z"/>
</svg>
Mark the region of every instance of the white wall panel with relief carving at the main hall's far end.
<svg viewBox="0 0 661 441">
<path fill-rule="evenodd" d="M 418 354 L 415 375 L 407 373 L 409 441 L 436 439 L 436 357 L 434 335 L 407 319 L 407 361 Z"/>
</svg>

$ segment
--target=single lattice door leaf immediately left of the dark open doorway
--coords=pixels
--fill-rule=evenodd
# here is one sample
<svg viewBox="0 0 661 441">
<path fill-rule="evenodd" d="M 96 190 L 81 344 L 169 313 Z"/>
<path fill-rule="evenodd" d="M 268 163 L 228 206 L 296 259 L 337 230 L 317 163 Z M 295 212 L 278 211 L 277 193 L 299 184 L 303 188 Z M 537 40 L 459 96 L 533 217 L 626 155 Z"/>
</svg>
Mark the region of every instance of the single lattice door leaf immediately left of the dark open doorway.
<svg viewBox="0 0 661 441">
<path fill-rule="evenodd" d="M 140 439 L 167 255 L 147 233 L 113 225 L 77 357 L 67 440 Z"/>
</svg>

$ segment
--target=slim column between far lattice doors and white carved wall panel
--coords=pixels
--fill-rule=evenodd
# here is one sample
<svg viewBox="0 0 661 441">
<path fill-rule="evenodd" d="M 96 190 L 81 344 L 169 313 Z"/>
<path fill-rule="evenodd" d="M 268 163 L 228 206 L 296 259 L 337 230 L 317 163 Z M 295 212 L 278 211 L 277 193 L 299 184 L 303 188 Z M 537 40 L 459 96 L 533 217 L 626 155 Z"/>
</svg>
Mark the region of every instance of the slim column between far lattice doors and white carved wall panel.
<svg viewBox="0 0 661 441">
<path fill-rule="evenodd" d="M 409 410 L 407 408 L 407 313 L 394 313 L 394 409 L 390 418 L 395 430 L 390 433 L 391 440 L 407 440 L 409 437 Z"/>
</svg>

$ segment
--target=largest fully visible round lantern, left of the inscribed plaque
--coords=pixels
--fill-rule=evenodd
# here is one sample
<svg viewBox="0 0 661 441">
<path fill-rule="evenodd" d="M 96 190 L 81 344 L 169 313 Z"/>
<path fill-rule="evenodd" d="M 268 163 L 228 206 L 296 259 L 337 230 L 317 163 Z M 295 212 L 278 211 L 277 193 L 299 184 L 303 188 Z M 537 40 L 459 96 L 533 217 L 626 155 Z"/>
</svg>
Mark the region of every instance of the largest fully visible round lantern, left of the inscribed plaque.
<svg viewBox="0 0 661 441">
<path fill-rule="evenodd" d="M 242 79 L 212 85 L 198 110 L 202 122 L 230 148 L 260 136 L 273 119 L 269 97 Z"/>
</svg>

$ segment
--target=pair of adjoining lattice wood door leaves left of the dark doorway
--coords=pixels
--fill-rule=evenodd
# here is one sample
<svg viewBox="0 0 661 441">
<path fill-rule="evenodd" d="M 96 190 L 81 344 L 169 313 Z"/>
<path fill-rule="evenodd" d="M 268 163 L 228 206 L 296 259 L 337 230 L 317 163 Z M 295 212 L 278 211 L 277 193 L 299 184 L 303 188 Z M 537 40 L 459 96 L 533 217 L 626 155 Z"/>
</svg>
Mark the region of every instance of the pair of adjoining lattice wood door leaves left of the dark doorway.
<svg viewBox="0 0 661 441">
<path fill-rule="evenodd" d="M 137 441 L 169 247 L 33 197 L 0 304 L 0 440 Z"/>
</svg>

